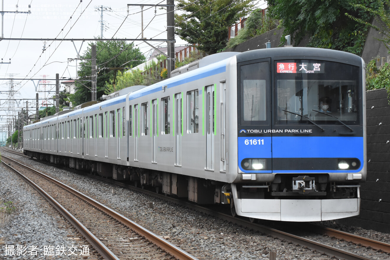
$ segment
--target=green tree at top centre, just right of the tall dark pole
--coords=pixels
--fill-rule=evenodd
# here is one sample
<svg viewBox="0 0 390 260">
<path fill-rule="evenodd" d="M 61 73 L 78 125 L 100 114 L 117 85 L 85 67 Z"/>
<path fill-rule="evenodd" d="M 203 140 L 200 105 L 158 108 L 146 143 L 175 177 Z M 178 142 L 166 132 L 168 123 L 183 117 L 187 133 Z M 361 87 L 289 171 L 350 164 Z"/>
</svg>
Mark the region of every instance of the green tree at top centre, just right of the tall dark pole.
<svg viewBox="0 0 390 260">
<path fill-rule="evenodd" d="M 226 47 L 227 28 L 246 16 L 254 5 L 250 0 L 178 0 L 175 33 L 190 44 L 200 44 L 208 54 Z"/>
</svg>

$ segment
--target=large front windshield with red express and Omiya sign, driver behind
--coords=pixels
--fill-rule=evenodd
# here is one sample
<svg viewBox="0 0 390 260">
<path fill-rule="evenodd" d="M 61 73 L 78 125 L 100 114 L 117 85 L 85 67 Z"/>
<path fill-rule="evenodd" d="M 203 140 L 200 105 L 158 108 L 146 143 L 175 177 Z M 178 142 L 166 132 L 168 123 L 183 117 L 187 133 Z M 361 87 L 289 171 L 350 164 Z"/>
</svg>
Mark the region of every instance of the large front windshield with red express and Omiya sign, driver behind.
<svg viewBox="0 0 390 260">
<path fill-rule="evenodd" d="M 359 124 L 358 67 L 323 60 L 283 60 L 275 66 L 277 124 L 307 124 L 302 116 L 321 124 L 337 119 Z"/>
</svg>

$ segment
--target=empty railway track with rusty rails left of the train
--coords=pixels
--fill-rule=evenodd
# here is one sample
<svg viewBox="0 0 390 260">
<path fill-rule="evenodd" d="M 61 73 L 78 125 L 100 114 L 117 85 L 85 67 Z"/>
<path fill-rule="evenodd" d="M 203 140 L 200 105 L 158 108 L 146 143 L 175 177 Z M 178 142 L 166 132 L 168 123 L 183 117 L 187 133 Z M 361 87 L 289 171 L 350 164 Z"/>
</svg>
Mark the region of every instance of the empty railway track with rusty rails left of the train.
<svg viewBox="0 0 390 260">
<path fill-rule="evenodd" d="M 103 258 L 197 259 L 73 188 L 7 156 L 2 155 L 2 161 L 54 205 Z M 45 187 L 46 191 L 39 186 Z"/>
</svg>

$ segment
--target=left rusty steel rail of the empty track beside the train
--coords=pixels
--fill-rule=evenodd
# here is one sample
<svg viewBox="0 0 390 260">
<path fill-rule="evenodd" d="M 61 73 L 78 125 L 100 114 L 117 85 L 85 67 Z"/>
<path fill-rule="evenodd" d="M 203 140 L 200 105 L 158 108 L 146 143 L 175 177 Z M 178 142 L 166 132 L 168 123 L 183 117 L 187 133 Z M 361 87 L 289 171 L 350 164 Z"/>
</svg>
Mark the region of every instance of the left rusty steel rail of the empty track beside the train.
<svg viewBox="0 0 390 260">
<path fill-rule="evenodd" d="M 4 158 L 7 158 L 11 161 L 11 158 L 7 156 L 2 156 Z M 16 161 L 14 161 L 16 162 Z M 78 219 L 76 219 L 69 211 L 67 211 L 60 203 L 58 203 L 53 197 L 51 197 L 46 191 L 41 189 L 37 184 L 35 184 L 32 180 L 28 179 L 25 175 L 20 173 L 18 170 L 14 169 L 11 165 L 5 163 L 2 161 L 2 163 L 10 168 L 13 172 L 18 174 L 23 180 L 25 180 L 28 184 L 30 184 L 34 189 L 36 189 L 41 195 L 48 200 L 48 202 L 53 205 L 58 212 L 62 214 L 72 225 L 80 232 L 82 235 L 87 239 L 88 242 L 99 252 L 101 256 L 103 256 L 107 260 L 119 260 L 119 258 L 112 253 L 110 249 L 108 249 L 94 234 L 92 234 Z M 17 163 L 17 162 L 16 162 Z"/>
</svg>

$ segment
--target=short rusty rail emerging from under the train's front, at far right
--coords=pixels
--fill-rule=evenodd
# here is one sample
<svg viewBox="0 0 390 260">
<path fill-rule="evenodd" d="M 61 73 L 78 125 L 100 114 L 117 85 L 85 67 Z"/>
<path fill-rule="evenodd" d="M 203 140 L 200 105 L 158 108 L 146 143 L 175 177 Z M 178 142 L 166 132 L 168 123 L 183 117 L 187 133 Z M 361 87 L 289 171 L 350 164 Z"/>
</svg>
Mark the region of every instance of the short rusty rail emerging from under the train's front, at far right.
<svg viewBox="0 0 390 260">
<path fill-rule="evenodd" d="M 316 231 L 318 231 L 321 234 L 328 235 L 330 237 L 336 237 L 337 239 L 343 239 L 345 241 L 352 242 L 354 244 L 360 244 L 362 246 L 370 247 L 370 248 L 373 248 L 375 250 L 380 250 L 380 251 L 383 251 L 385 253 L 390 253 L 390 244 L 388 244 L 388 243 L 374 240 L 374 239 L 370 239 L 367 237 L 362 237 L 360 235 L 347 233 L 347 232 L 336 230 L 333 228 L 318 226 L 318 225 L 314 225 L 314 224 L 312 224 L 312 226 L 313 226 L 313 229 L 315 229 Z"/>
</svg>

